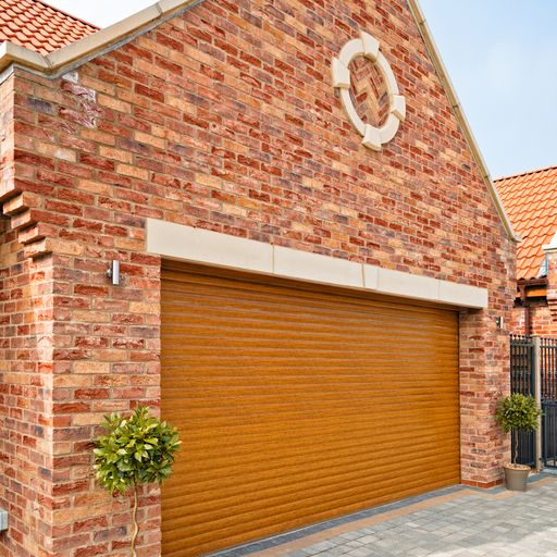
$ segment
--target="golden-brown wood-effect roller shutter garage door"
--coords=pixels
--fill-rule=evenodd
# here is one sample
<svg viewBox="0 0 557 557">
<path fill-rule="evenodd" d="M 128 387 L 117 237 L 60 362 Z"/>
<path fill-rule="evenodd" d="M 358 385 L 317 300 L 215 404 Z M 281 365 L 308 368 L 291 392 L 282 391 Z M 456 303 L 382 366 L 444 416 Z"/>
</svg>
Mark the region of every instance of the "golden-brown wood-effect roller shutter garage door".
<svg viewBox="0 0 557 557">
<path fill-rule="evenodd" d="M 459 482 L 456 312 L 184 269 L 162 278 L 165 557 Z"/>
</svg>

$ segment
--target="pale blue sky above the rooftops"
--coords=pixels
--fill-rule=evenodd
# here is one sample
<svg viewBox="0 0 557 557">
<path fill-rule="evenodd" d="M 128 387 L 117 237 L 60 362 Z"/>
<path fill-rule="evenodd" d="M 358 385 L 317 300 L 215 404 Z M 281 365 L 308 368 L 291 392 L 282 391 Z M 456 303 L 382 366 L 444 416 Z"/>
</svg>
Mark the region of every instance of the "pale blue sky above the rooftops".
<svg viewBox="0 0 557 557">
<path fill-rule="evenodd" d="M 106 27 L 154 0 L 48 0 Z M 557 1 L 421 0 L 493 177 L 557 164 Z"/>
</svg>

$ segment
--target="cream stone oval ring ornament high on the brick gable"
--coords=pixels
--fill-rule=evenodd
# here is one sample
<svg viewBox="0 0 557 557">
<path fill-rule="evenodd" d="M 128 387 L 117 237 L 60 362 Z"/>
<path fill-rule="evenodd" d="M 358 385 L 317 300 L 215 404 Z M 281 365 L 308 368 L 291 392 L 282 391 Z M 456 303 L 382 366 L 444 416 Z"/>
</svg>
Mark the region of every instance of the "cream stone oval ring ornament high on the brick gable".
<svg viewBox="0 0 557 557">
<path fill-rule="evenodd" d="M 358 115 L 358 112 L 356 112 L 350 97 L 350 69 L 348 66 L 357 57 L 364 57 L 373 62 L 385 81 L 388 94 L 388 116 L 381 127 L 366 124 Z M 382 145 L 395 137 L 400 122 L 405 120 L 406 100 L 399 94 L 391 64 L 380 51 L 379 40 L 368 33 L 361 32 L 359 39 L 349 40 L 342 48 L 338 58 L 333 58 L 331 71 L 333 74 L 333 87 L 339 89 L 341 102 L 348 120 L 362 136 L 361 143 L 374 151 L 381 151 Z"/>
</svg>

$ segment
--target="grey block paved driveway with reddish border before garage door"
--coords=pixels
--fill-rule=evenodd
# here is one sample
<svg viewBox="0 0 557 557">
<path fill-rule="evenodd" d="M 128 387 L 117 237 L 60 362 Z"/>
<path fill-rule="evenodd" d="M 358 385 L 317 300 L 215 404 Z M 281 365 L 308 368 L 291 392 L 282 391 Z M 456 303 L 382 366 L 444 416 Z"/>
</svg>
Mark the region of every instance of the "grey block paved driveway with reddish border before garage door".
<svg viewBox="0 0 557 557">
<path fill-rule="evenodd" d="M 528 492 L 455 486 L 219 557 L 557 557 L 557 475 Z"/>
</svg>

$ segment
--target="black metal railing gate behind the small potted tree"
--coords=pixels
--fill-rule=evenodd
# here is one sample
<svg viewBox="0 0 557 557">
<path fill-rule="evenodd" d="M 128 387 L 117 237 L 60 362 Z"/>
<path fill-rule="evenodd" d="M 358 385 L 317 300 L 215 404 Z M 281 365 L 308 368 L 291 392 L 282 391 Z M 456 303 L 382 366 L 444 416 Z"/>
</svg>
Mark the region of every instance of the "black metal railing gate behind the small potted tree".
<svg viewBox="0 0 557 557">
<path fill-rule="evenodd" d="M 545 467 L 557 468 L 557 338 L 511 335 L 511 391 L 535 395 L 536 379 L 543 411 L 541 458 Z M 519 433 L 517 462 L 535 466 L 535 434 Z"/>
</svg>

